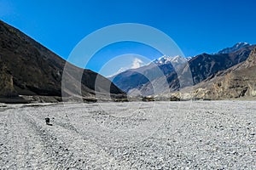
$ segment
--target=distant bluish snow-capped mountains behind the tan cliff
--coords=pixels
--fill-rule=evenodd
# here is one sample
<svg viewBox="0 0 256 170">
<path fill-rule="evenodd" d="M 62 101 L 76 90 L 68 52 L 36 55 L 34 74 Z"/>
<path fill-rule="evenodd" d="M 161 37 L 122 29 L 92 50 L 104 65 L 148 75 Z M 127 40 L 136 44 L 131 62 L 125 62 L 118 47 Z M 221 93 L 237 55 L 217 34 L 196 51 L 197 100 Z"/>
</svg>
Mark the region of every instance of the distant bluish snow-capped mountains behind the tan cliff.
<svg viewBox="0 0 256 170">
<path fill-rule="evenodd" d="M 142 95 L 154 94 L 152 84 L 160 82 L 163 78 L 168 82 L 170 91 L 177 91 L 185 86 L 198 84 L 209 77 L 214 77 L 218 71 L 224 71 L 233 65 L 241 63 L 247 59 L 250 52 L 256 47 L 247 43 L 239 44 L 236 44 L 233 48 L 225 48 L 221 53 L 200 54 L 188 61 L 181 59 L 181 57 L 167 59 L 175 59 L 178 62 L 166 62 L 166 60 L 162 62 L 164 58 L 156 59 L 154 66 L 150 64 L 138 69 L 125 71 L 112 77 L 112 79 L 119 88 L 131 95 L 133 95 L 133 92 L 140 92 L 139 94 Z M 225 54 L 224 52 L 230 53 Z M 189 65 L 189 67 L 186 65 Z M 150 74 L 155 70 L 154 67 L 158 67 L 162 74 L 160 74 L 160 77 L 154 77 L 149 81 L 146 77 L 150 77 Z M 177 75 L 177 72 L 180 74 Z M 185 79 L 181 83 L 183 73 L 189 73 L 191 80 L 188 79 L 189 77 L 184 77 Z"/>
</svg>

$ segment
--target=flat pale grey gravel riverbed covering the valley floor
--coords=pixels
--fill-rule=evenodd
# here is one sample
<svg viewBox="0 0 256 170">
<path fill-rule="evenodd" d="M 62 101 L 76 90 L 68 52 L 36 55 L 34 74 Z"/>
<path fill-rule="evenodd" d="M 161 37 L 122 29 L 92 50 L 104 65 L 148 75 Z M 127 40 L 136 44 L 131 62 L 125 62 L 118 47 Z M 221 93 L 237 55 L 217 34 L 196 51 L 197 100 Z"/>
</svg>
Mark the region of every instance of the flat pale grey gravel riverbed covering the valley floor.
<svg viewBox="0 0 256 170">
<path fill-rule="evenodd" d="M 256 169 L 256 101 L 0 105 L 0 134 L 0 169 Z"/>
</svg>

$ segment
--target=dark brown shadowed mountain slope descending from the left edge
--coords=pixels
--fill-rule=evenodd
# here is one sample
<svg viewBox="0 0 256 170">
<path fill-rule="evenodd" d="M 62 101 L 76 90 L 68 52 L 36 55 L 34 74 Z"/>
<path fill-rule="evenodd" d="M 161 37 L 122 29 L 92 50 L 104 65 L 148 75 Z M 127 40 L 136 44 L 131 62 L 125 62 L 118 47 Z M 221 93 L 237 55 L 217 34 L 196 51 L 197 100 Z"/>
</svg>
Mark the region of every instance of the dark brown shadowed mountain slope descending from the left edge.
<svg viewBox="0 0 256 170">
<path fill-rule="evenodd" d="M 64 59 L 49 49 L 0 21 L 0 95 L 2 97 L 61 96 L 61 78 L 65 64 Z M 97 89 L 110 91 L 111 94 L 125 95 L 107 78 L 96 72 L 83 70 L 74 65 L 70 68 L 73 71 L 70 76 L 72 79 L 76 79 L 73 77 L 76 72 L 83 72 L 80 82 L 82 82 L 81 90 L 85 97 L 94 96 Z M 96 77 L 102 80 L 102 83 L 97 83 L 95 88 Z M 105 83 L 108 84 L 106 87 Z"/>
</svg>

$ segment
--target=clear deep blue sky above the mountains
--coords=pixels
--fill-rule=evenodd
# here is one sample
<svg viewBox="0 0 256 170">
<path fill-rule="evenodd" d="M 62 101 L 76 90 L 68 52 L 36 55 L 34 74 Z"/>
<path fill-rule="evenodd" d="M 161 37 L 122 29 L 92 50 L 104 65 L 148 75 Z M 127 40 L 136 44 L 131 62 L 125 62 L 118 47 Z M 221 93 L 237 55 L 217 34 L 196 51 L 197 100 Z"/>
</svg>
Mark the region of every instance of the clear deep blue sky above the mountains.
<svg viewBox="0 0 256 170">
<path fill-rule="evenodd" d="M 255 5 L 253 0 L 0 0 L 0 19 L 64 59 L 91 32 L 119 23 L 153 26 L 172 37 L 185 56 L 194 56 L 211 54 L 236 42 L 255 44 Z M 125 42 L 102 49 L 98 57 L 106 62 L 125 53 L 148 55 L 149 59 L 160 55 Z M 88 68 L 99 71 L 104 64 L 100 60 Z"/>
</svg>

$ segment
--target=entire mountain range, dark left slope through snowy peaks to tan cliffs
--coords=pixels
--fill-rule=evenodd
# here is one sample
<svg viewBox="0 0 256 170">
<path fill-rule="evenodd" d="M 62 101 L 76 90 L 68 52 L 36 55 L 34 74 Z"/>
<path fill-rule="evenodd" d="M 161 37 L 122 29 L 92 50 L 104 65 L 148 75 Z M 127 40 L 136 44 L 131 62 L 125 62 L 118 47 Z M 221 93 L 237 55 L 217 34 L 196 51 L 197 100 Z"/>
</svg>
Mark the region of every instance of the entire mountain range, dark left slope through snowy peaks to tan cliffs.
<svg viewBox="0 0 256 170">
<path fill-rule="evenodd" d="M 256 45 L 247 42 L 236 43 L 215 54 L 198 54 L 186 59 L 163 56 L 109 80 L 68 63 L 1 20 L 0 37 L 0 102 L 75 100 L 73 96 L 79 91 L 86 101 L 126 100 L 126 94 L 175 99 L 256 96 Z M 65 65 L 70 72 L 63 78 Z M 64 88 L 63 81 L 67 83 Z M 81 87 L 74 82 L 79 82 Z"/>
</svg>

